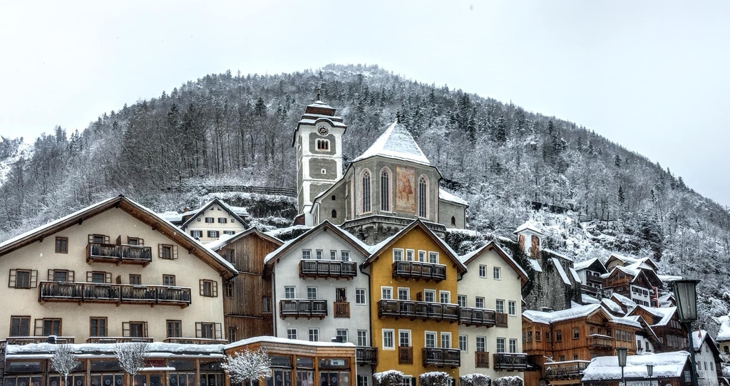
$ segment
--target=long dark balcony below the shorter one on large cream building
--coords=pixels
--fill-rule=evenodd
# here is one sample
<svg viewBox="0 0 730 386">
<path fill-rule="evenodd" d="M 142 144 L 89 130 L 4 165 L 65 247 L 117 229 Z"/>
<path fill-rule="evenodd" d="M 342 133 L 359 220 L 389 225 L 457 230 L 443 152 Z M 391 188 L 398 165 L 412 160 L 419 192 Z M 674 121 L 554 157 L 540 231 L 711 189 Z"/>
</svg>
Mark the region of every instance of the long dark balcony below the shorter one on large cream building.
<svg viewBox="0 0 730 386">
<path fill-rule="evenodd" d="M 158 304 L 180 306 L 191 304 L 188 287 L 162 285 L 121 285 L 88 282 L 40 282 L 38 301 L 72 301 L 82 303 Z"/>
</svg>

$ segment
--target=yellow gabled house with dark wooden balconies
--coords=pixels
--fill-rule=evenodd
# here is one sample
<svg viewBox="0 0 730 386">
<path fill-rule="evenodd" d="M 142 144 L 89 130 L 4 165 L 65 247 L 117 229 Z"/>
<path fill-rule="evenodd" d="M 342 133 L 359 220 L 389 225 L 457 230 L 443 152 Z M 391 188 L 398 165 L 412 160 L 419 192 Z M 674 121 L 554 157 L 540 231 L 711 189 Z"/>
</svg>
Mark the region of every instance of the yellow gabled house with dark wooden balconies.
<svg viewBox="0 0 730 386">
<path fill-rule="evenodd" d="M 369 269 L 373 298 L 374 372 L 398 370 L 415 378 L 445 371 L 458 379 L 460 352 L 456 282 L 466 271 L 456 253 L 421 220 L 374 247 Z"/>
</svg>

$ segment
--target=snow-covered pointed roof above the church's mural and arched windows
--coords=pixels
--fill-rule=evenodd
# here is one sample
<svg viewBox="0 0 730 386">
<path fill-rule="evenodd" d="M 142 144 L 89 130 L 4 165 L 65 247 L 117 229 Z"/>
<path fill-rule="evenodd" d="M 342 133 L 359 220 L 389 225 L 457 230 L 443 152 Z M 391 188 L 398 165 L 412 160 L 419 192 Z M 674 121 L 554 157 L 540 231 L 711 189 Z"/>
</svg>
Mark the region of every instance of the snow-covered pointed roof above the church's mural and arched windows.
<svg viewBox="0 0 730 386">
<path fill-rule="evenodd" d="M 365 150 L 365 153 L 362 153 L 358 158 L 355 158 L 353 162 L 376 155 L 431 166 L 429 158 L 426 158 L 423 150 L 420 150 L 420 147 L 408 132 L 408 129 L 399 122 L 393 122 L 372 146 L 368 150 Z"/>
</svg>

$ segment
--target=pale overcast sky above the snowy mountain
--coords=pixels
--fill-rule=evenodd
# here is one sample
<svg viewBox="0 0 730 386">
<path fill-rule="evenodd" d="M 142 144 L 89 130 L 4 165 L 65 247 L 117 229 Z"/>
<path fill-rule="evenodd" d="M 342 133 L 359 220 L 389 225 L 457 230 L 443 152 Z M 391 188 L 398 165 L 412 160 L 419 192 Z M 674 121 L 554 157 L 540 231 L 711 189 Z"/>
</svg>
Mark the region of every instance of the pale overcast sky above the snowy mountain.
<svg viewBox="0 0 730 386">
<path fill-rule="evenodd" d="M 0 135 L 205 74 L 377 64 L 570 120 L 730 205 L 730 1 L 0 2 Z"/>
</svg>

